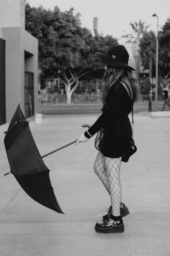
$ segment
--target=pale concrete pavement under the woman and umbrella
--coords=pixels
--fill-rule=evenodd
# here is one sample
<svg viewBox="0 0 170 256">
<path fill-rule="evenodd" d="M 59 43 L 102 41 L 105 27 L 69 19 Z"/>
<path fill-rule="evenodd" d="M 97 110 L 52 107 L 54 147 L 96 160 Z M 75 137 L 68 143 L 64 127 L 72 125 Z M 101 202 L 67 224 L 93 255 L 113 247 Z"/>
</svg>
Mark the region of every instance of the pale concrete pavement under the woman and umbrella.
<svg viewBox="0 0 170 256">
<path fill-rule="evenodd" d="M 78 138 L 99 115 L 55 116 L 42 124 L 30 122 L 42 155 Z M 131 116 L 129 117 L 131 120 Z M 130 214 L 125 231 L 99 234 L 94 230 L 110 206 L 110 197 L 93 171 L 98 151 L 95 136 L 44 158 L 55 195 L 66 215 L 32 200 L 12 174 L 0 178 L 0 255 L 2 256 L 161 256 L 170 255 L 170 118 L 134 114 L 137 152 L 122 162 L 122 202 Z M 0 126 L 0 175 L 9 171 Z"/>
</svg>

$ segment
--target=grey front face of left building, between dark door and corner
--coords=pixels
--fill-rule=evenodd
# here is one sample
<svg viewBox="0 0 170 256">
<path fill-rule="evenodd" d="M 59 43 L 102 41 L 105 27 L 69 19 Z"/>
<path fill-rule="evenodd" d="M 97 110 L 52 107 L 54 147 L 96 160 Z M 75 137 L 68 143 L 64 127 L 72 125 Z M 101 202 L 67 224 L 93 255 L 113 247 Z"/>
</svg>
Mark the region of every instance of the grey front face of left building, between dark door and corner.
<svg viewBox="0 0 170 256">
<path fill-rule="evenodd" d="M 21 84 L 23 84 L 21 28 L 3 28 L 6 40 L 6 122 L 9 123 L 14 110 L 21 101 Z M 21 109 L 24 102 L 21 101 Z"/>
</svg>

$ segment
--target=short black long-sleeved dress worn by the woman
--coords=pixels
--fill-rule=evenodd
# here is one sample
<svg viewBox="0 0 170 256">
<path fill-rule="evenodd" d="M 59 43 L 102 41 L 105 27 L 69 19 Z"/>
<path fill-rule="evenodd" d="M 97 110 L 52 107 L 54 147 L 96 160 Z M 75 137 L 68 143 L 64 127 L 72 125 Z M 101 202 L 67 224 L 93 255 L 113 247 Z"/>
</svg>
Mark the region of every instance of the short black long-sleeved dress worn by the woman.
<svg viewBox="0 0 170 256">
<path fill-rule="evenodd" d="M 88 130 L 91 135 L 98 132 L 95 147 L 110 158 L 121 157 L 131 147 L 132 126 L 128 115 L 133 109 L 134 100 L 131 99 L 129 86 L 125 84 L 130 97 L 124 85 L 116 82 L 107 94 L 102 115 Z"/>
</svg>

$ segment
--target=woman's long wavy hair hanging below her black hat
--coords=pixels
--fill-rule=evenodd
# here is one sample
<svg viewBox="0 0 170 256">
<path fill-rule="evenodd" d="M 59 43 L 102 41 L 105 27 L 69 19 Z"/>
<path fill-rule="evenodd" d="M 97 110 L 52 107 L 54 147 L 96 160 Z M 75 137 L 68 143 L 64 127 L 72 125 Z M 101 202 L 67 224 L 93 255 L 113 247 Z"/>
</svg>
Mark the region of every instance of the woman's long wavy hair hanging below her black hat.
<svg viewBox="0 0 170 256">
<path fill-rule="evenodd" d="M 140 86 L 135 71 L 128 68 L 114 68 L 107 65 L 107 69 L 105 70 L 103 76 L 103 86 L 100 96 L 103 105 L 105 105 L 109 89 L 117 81 L 121 81 L 123 77 L 127 77 L 127 79 L 130 81 L 134 94 L 134 102 L 138 102 L 140 98 Z"/>
</svg>

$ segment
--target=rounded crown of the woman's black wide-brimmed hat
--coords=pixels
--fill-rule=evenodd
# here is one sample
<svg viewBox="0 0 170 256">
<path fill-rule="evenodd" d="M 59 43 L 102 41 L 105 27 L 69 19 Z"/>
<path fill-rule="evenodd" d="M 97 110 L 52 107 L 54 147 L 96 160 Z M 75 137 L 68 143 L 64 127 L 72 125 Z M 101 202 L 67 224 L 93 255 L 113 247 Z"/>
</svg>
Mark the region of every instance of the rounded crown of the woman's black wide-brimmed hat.
<svg viewBox="0 0 170 256">
<path fill-rule="evenodd" d="M 115 45 L 112 46 L 108 52 L 106 52 L 107 55 L 109 56 L 115 56 L 112 58 L 115 58 L 117 60 L 120 60 L 123 63 L 128 64 L 129 61 L 129 53 L 126 50 L 126 48 L 123 45 Z"/>
</svg>

